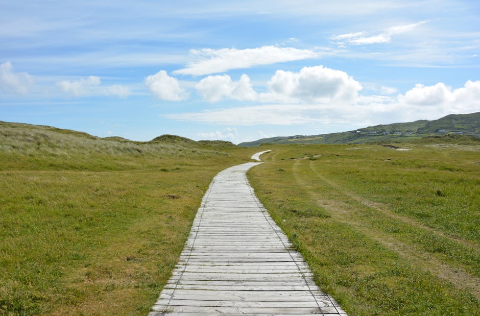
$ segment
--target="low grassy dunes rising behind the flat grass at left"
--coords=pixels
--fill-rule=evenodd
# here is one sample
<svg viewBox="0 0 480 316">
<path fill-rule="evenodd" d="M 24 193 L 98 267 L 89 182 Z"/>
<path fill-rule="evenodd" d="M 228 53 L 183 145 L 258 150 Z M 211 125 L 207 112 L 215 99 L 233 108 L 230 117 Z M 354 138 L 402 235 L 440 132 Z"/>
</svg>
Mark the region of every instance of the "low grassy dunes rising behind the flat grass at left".
<svg viewBox="0 0 480 316">
<path fill-rule="evenodd" d="M 0 170 L 18 157 L 26 157 L 32 165 L 42 157 L 41 161 L 50 161 L 47 167 L 73 164 L 75 168 L 89 168 L 82 161 L 106 165 L 114 159 L 128 161 L 123 159 L 127 156 L 224 155 L 223 150 L 230 148 L 239 147 L 227 141 L 195 141 L 175 135 L 162 135 L 151 141 L 133 141 L 118 136 L 102 138 L 51 126 L 0 121 Z"/>
</svg>

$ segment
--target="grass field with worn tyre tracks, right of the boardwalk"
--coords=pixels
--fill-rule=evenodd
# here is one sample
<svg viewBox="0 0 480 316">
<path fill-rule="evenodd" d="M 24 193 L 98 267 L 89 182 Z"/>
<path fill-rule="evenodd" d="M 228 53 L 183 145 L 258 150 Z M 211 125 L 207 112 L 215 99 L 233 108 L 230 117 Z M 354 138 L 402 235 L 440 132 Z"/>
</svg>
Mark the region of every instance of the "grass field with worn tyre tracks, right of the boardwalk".
<svg viewBox="0 0 480 316">
<path fill-rule="evenodd" d="M 349 314 L 480 314 L 480 142 L 394 145 L 268 145 L 248 176 Z"/>
</svg>

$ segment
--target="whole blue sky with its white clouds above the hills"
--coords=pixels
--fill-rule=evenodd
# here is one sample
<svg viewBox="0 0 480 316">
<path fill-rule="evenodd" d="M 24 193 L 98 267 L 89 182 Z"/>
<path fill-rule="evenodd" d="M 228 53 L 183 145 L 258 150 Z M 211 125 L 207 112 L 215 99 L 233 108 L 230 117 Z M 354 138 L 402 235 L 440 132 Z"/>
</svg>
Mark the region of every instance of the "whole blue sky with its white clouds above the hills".
<svg viewBox="0 0 480 316">
<path fill-rule="evenodd" d="M 0 120 L 234 143 L 480 111 L 477 1 L 2 1 Z"/>
</svg>

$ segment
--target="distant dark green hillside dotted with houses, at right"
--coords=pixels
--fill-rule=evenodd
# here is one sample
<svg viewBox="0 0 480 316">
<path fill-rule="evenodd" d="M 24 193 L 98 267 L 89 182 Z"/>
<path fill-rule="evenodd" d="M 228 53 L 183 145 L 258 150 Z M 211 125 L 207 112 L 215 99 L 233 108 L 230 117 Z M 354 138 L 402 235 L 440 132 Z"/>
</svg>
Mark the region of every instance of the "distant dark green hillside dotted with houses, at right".
<svg viewBox="0 0 480 316">
<path fill-rule="evenodd" d="M 255 141 L 243 142 L 238 145 L 253 147 L 261 143 L 336 144 L 364 143 L 368 141 L 405 141 L 447 134 L 480 137 L 480 112 L 451 114 L 436 120 L 416 120 L 408 123 L 370 126 L 342 133 L 262 138 Z"/>
</svg>

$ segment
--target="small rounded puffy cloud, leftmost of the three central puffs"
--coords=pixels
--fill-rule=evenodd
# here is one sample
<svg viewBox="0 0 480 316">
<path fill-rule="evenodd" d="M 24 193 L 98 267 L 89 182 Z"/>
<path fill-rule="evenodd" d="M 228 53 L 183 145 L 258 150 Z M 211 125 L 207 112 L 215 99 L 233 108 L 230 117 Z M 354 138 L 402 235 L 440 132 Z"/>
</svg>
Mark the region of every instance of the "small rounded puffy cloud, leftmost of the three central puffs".
<svg viewBox="0 0 480 316">
<path fill-rule="evenodd" d="M 145 84 L 161 100 L 182 101 L 188 98 L 188 93 L 180 88 L 178 80 L 170 77 L 165 70 L 148 76 Z"/>
</svg>

